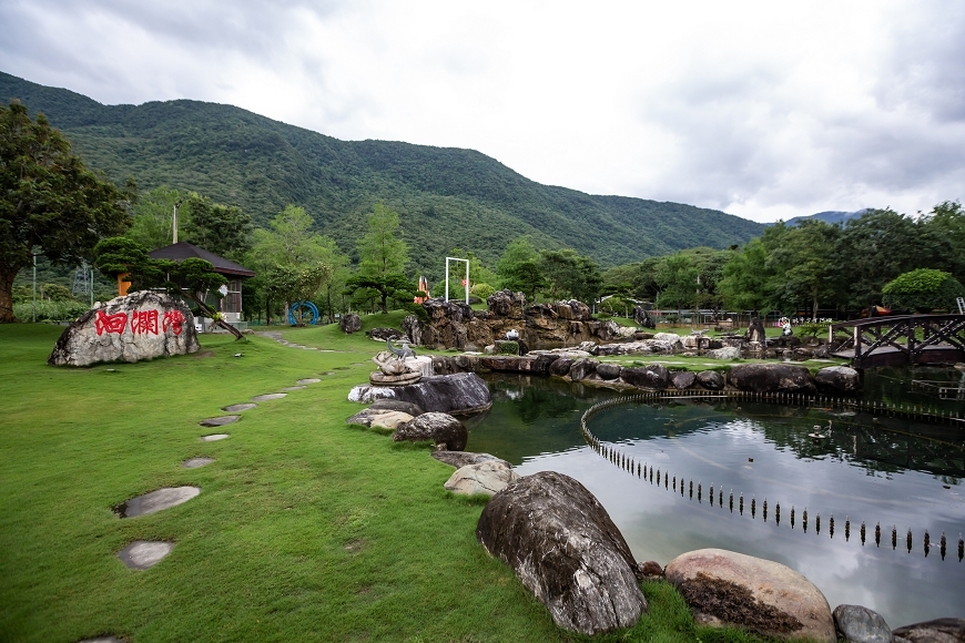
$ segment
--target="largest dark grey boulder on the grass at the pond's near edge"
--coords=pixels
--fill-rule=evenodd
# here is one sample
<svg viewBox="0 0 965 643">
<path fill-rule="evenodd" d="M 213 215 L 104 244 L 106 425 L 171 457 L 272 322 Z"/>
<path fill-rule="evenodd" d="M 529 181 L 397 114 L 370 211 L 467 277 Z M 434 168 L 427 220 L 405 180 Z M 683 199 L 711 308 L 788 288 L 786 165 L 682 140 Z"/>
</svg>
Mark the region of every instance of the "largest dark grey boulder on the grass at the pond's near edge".
<svg viewBox="0 0 965 643">
<path fill-rule="evenodd" d="M 629 627 L 647 610 L 627 541 L 568 476 L 542 471 L 506 487 L 482 510 L 476 538 L 560 627 L 597 634 Z"/>
</svg>

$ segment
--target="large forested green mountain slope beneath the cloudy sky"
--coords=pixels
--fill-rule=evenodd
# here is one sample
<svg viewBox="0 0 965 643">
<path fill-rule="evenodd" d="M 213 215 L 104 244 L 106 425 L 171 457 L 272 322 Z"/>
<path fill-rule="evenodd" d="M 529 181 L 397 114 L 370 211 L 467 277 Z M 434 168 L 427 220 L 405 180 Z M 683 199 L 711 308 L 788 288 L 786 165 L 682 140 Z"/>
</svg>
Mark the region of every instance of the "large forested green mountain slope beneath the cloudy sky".
<svg viewBox="0 0 965 643">
<path fill-rule="evenodd" d="M 429 276 L 455 247 L 492 265 L 520 235 L 609 267 L 763 231 L 715 210 L 541 185 L 474 150 L 339 141 L 231 105 L 103 105 L 0 72 L 0 100 L 11 99 L 47 114 L 89 166 L 118 183 L 193 190 L 242 206 L 262 226 L 294 203 L 348 252 L 384 201 L 400 214 L 413 267 Z"/>
</svg>

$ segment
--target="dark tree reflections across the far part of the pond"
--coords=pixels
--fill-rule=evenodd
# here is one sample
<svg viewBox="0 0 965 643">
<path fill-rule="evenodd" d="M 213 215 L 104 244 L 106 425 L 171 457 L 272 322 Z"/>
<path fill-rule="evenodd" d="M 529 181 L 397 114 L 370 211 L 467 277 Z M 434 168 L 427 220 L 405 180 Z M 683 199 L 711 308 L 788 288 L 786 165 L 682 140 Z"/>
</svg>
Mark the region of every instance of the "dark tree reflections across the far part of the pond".
<svg viewBox="0 0 965 643">
<path fill-rule="evenodd" d="M 486 379 L 495 404 L 485 430 L 495 433 L 497 425 L 505 425 L 504 429 L 515 425 L 512 455 L 507 459 L 516 462 L 526 456 L 582 446 L 582 411 L 620 395 L 542 376 L 494 375 Z M 961 429 L 897 418 L 875 419 L 867 414 L 842 416 L 831 409 L 746 400 L 666 399 L 605 410 L 590 420 L 590 428 L 606 441 L 681 438 L 714 425 L 724 427 L 738 418 L 750 420 L 766 441 L 798 459 L 847 461 L 870 476 L 890 477 L 913 469 L 941 477 L 946 484 L 958 484 L 965 478 L 965 437 Z M 833 422 L 830 437 L 809 437 L 814 426 L 826 433 L 829 421 Z M 524 427 L 527 430 L 520 433 Z M 481 435 L 479 439 L 489 441 Z M 496 442 L 492 445 L 496 448 Z"/>
</svg>

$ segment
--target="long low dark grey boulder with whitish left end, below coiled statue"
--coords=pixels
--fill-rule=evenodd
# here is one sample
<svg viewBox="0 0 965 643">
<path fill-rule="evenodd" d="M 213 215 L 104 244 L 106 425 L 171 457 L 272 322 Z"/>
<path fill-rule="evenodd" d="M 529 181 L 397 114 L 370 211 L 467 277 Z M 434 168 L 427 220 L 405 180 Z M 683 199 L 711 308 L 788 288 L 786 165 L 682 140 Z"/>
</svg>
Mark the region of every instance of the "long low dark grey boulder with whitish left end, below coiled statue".
<svg viewBox="0 0 965 643">
<path fill-rule="evenodd" d="M 489 388 L 475 372 L 434 375 L 406 386 L 359 385 L 348 394 L 349 401 L 372 404 L 379 399 L 407 401 L 425 411 L 453 415 L 474 414 L 492 406 Z"/>
</svg>

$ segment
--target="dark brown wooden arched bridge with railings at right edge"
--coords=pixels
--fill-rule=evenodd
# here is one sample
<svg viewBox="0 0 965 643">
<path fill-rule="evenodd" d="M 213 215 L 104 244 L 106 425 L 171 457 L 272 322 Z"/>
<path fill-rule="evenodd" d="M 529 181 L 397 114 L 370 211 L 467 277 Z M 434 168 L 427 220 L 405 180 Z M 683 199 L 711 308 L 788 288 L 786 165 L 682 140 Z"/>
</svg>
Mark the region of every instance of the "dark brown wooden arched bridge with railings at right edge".
<svg viewBox="0 0 965 643">
<path fill-rule="evenodd" d="M 965 315 L 872 317 L 832 324 L 835 357 L 854 368 L 965 361 Z"/>
</svg>

